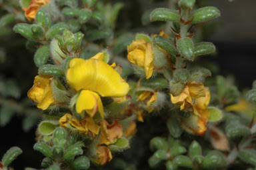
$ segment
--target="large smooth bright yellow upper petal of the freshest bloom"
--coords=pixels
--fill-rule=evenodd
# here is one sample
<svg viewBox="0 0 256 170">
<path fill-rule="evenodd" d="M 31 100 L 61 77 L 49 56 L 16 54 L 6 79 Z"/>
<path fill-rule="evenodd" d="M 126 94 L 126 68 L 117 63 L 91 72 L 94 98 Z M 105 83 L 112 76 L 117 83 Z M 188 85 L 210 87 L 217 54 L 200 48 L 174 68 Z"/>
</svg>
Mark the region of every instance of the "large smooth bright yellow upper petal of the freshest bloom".
<svg viewBox="0 0 256 170">
<path fill-rule="evenodd" d="M 129 91 L 129 85 L 121 75 L 98 59 L 72 59 L 66 78 L 75 90 L 87 89 L 103 97 L 123 97 Z"/>
</svg>

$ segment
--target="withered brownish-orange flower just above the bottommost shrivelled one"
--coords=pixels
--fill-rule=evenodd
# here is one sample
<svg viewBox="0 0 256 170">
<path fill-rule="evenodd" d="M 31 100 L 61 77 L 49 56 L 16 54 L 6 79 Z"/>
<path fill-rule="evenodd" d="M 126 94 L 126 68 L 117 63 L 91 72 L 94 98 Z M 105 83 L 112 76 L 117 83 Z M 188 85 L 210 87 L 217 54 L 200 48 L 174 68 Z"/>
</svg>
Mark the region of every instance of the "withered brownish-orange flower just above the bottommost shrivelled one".
<svg viewBox="0 0 256 170">
<path fill-rule="evenodd" d="M 119 137 L 123 135 L 123 126 L 114 121 L 111 125 L 103 120 L 101 123 L 101 135 L 99 136 L 99 145 L 110 145 L 117 141 Z"/>
</svg>

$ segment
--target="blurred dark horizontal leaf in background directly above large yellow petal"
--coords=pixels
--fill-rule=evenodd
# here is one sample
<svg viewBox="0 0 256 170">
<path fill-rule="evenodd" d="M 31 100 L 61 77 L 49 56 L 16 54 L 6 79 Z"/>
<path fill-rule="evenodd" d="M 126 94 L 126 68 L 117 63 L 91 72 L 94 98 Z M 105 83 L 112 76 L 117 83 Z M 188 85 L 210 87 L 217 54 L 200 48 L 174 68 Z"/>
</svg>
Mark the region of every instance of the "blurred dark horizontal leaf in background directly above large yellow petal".
<svg viewBox="0 0 256 170">
<path fill-rule="evenodd" d="M 113 35 L 110 29 L 93 29 L 87 32 L 87 40 L 95 41 L 99 39 L 106 39 Z"/>
</svg>

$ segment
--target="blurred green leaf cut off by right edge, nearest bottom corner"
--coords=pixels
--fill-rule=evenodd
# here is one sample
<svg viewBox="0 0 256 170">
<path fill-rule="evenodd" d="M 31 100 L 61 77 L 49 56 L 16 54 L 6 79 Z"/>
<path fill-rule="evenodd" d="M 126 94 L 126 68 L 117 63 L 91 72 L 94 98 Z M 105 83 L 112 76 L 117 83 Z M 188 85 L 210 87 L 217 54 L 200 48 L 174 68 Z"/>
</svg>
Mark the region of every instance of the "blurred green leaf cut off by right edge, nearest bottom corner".
<svg viewBox="0 0 256 170">
<path fill-rule="evenodd" d="M 239 151 L 239 158 L 245 163 L 256 165 L 256 150 L 255 149 L 244 149 Z"/>
</svg>

